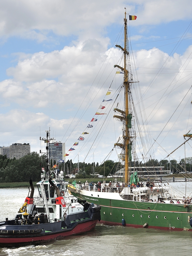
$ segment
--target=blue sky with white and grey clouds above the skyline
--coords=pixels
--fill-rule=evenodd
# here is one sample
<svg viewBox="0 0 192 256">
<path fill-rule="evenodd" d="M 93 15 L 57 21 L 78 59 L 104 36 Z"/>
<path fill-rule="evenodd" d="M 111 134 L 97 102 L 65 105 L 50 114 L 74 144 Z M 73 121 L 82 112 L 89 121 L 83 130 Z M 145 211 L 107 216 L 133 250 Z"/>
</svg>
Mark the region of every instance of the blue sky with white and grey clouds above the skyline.
<svg viewBox="0 0 192 256">
<path fill-rule="evenodd" d="M 102 100 L 111 97 L 107 115 L 98 116 L 68 159 L 117 161 L 119 151 L 109 153 L 121 126 L 110 109 L 122 82 L 113 66 L 121 58 L 115 45 L 125 7 L 137 16 L 128 21 L 131 60 L 146 111 L 140 114 L 149 127 L 142 132 L 154 144 L 152 158 L 164 159 L 184 142 L 192 128 L 191 1 L 7 0 L 0 2 L 0 146 L 30 143 L 31 151 L 39 152 L 39 137 L 50 127 L 67 152 L 96 118 Z M 111 83 L 112 93 L 105 96 Z M 101 127 L 103 135 L 97 136 Z M 192 156 L 191 143 L 172 155 L 177 161 L 184 156 Z"/>
</svg>

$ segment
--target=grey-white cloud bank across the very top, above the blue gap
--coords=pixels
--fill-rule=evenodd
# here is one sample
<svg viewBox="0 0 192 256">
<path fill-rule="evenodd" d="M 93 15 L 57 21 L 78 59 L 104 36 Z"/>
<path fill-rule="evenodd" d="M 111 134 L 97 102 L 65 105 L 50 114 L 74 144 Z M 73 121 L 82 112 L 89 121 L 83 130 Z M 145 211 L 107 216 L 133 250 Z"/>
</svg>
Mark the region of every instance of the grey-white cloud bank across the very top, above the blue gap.
<svg viewBox="0 0 192 256">
<path fill-rule="evenodd" d="M 190 0 L 134 0 L 90 2 L 74 0 L 7 0 L 0 3 L 0 36 L 21 36 L 41 42 L 52 31 L 57 35 L 77 35 L 91 38 L 101 35 L 113 23 L 122 23 L 124 7 L 127 13 L 137 15 L 131 26 L 154 25 L 162 22 L 190 19 Z"/>
</svg>

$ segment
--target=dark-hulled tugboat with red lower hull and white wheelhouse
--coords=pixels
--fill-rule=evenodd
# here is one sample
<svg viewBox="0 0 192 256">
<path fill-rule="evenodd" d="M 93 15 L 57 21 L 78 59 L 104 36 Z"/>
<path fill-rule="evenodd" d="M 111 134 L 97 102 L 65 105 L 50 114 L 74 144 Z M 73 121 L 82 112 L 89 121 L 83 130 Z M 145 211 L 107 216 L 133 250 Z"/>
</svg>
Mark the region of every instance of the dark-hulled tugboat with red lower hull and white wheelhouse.
<svg viewBox="0 0 192 256">
<path fill-rule="evenodd" d="M 38 245 L 85 233 L 93 230 L 101 219 L 101 206 L 77 200 L 67 192 L 68 182 L 64 181 L 63 172 L 49 170 L 48 137 L 46 131 L 46 139 L 42 139 L 47 143 L 46 171 L 41 172 L 41 181 L 37 183 L 38 197 L 33 197 L 35 188 L 30 180 L 30 195 L 16 217 L 0 222 L 1 247 Z"/>
</svg>

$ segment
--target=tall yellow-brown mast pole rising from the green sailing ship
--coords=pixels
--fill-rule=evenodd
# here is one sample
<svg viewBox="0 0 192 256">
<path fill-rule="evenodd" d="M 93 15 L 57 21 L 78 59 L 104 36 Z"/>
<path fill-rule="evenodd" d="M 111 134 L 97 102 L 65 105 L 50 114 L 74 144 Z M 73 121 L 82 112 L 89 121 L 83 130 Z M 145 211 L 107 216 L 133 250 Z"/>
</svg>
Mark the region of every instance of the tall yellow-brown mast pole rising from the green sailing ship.
<svg viewBox="0 0 192 256">
<path fill-rule="evenodd" d="M 125 35 L 124 35 L 124 90 L 125 90 L 125 185 L 128 185 L 129 177 L 129 129 L 128 129 L 128 114 L 129 114 L 129 98 L 128 98 L 128 70 L 127 70 L 127 19 L 125 11 Z"/>
</svg>

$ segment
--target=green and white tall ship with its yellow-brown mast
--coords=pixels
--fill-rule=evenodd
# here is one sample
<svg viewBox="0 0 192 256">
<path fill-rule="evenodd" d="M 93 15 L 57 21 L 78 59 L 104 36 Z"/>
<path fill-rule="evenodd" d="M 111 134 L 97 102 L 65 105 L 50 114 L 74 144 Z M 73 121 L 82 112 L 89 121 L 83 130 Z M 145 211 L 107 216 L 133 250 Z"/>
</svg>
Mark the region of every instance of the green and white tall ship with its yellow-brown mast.
<svg viewBox="0 0 192 256">
<path fill-rule="evenodd" d="M 115 147 L 121 149 L 124 172 L 123 182 L 110 182 L 94 185 L 93 183 L 68 185 L 71 193 L 82 200 L 101 205 L 101 223 L 123 225 L 127 227 L 157 228 L 162 230 L 192 231 L 192 205 L 189 201 L 173 198 L 171 187 L 161 182 L 139 182 L 137 168 L 131 167 L 132 155 L 135 154 L 136 113 L 133 109 L 131 94 L 133 80 L 128 47 L 128 28 L 125 11 L 124 46 L 116 45 L 122 51 L 122 65 L 115 65 L 123 73 L 122 90 L 124 91 L 124 109 L 115 108 L 113 116 L 122 122 L 122 142 Z M 145 147 L 145 145 L 142 145 Z"/>
</svg>

